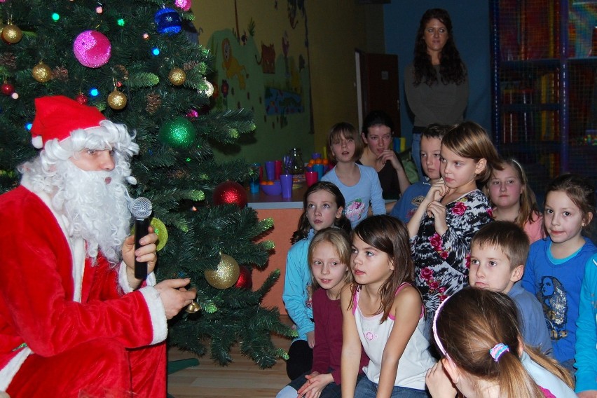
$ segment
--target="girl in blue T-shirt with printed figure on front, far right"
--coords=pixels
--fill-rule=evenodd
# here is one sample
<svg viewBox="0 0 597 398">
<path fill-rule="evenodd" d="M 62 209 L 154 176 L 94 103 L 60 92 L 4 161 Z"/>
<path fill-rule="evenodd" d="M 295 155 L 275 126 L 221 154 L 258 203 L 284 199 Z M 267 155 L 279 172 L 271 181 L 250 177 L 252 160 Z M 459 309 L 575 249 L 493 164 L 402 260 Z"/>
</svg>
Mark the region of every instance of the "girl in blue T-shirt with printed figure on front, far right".
<svg viewBox="0 0 597 398">
<path fill-rule="evenodd" d="M 595 205 L 589 179 L 563 174 L 551 181 L 543 214 L 548 236 L 530 246 L 522 280 L 542 303 L 554 357 L 572 372 L 580 287 L 586 264 L 597 253 L 582 231 L 591 223 Z"/>
</svg>

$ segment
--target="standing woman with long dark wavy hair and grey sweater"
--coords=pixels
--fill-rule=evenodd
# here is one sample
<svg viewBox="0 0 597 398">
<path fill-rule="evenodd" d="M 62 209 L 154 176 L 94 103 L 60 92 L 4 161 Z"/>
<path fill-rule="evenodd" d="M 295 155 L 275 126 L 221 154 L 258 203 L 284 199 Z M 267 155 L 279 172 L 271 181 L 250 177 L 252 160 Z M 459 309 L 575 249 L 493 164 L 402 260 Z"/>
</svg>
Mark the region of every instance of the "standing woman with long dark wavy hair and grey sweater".
<svg viewBox="0 0 597 398">
<path fill-rule="evenodd" d="M 467 67 L 454 42 L 450 15 L 442 8 L 425 11 L 420 20 L 413 63 L 404 72 L 404 90 L 415 116 L 413 160 L 423 180 L 421 132 L 431 123 L 460 123 L 469 98 Z"/>
</svg>

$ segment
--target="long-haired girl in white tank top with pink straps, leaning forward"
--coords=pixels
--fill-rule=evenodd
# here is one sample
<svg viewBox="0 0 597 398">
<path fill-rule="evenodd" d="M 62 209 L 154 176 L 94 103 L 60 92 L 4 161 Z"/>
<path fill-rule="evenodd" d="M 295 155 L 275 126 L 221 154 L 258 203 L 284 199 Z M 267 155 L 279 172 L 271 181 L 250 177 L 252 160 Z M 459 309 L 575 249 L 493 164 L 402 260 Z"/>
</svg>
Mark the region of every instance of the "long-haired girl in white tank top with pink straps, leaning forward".
<svg viewBox="0 0 597 398">
<path fill-rule="evenodd" d="M 355 284 L 341 296 L 342 397 L 428 397 L 425 372 L 434 360 L 402 221 L 385 215 L 362 221 L 352 231 L 351 270 Z M 357 384 L 361 347 L 370 360 Z"/>
</svg>

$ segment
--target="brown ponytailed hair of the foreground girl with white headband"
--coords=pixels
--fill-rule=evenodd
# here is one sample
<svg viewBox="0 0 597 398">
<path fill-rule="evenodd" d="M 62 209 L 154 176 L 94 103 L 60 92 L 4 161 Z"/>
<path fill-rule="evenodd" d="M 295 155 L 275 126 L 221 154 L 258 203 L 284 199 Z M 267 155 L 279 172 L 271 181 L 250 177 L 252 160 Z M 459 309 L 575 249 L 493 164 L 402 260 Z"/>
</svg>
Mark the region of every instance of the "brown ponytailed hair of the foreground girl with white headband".
<svg viewBox="0 0 597 398">
<path fill-rule="evenodd" d="M 434 318 L 439 351 L 459 369 L 479 380 L 499 385 L 500 397 L 542 398 L 541 388 L 526 371 L 516 304 L 496 291 L 467 287 L 446 299 Z M 533 350 L 528 354 L 570 385 L 570 375 Z"/>
</svg>

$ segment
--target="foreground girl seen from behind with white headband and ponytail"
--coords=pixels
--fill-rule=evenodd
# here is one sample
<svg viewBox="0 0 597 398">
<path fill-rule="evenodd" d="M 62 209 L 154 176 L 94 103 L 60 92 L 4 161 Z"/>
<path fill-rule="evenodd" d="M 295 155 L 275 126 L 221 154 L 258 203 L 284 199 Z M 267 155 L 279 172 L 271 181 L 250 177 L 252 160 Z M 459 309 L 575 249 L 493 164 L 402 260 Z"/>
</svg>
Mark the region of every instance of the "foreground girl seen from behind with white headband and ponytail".
<svg viewBox="0 0 597 398">
<path fill-rule="evenodd" d="M 524 345 L 518 324 L 506 294 L 469 287 L 446 299 L 433 320 L 443 358 L 425 378 L 432 397 L 576 397 L 570 373 Z"/>
</svg>

